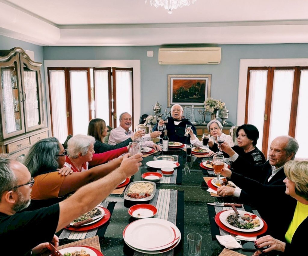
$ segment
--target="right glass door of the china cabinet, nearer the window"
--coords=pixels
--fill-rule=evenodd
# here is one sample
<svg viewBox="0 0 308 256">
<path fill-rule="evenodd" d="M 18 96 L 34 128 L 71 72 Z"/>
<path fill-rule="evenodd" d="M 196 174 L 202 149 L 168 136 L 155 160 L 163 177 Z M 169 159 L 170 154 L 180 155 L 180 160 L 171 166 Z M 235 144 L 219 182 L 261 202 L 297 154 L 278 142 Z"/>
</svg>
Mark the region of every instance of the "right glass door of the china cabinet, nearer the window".
<svg viewBox="0 0 308 256">
<path fill-rule="evenodd" d="M 22 91 L 26 132 L 43 127 L 43 107 L 40 67 L 21 57 Z M 40 63 L 39 63 L 40 65 Z"/>
</svg>

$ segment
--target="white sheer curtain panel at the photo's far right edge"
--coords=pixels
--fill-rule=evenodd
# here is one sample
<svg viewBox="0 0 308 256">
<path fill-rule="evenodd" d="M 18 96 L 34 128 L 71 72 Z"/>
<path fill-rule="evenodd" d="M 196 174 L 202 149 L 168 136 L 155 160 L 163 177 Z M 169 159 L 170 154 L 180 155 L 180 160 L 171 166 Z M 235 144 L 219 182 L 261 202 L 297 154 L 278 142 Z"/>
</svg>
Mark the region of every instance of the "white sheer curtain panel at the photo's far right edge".
<svg viewBox="0 0 308 256">
<path fill-rule="evenodd" d="M 299 149 L 296 158 L 308 159 L 307 145 L 307 109 L 308 109 L 308 70 L 301 70 L 299 84 L 297 118 L 295 128 L 295 139 L 298 141 Z"/>
</svg>

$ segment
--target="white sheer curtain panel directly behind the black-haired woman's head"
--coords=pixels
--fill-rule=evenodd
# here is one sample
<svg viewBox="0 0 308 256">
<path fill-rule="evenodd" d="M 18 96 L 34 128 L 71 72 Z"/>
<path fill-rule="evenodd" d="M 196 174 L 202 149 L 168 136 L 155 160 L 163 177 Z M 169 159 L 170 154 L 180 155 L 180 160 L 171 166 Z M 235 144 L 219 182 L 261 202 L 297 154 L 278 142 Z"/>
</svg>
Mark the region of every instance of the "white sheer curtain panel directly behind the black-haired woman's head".
<svg viewBox="0 0 308 256">
<path fill-rule="evenodd" d="M 248 124 L 253 124 L 259 130 L 257 148 L 262 150 L 264 109 L 267 84 L 267 70 L 250 70 Z"/>
</svg>

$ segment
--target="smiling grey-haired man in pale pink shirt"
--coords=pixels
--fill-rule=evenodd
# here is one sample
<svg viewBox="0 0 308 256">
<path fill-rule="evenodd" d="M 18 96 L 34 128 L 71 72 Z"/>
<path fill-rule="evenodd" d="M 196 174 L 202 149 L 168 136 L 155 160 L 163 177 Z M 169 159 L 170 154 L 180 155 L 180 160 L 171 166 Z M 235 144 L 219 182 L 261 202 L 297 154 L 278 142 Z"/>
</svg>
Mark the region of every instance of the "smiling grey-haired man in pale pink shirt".
<svg viewBox="0 0 308 256">
<path fill-rule="evenodd" d="M 108 144 L 110 145 L 116 145 L 124 140 L 127 140 L 131 136 L 133 136 L 135 133 L 130 130 L 129 128 L 132 126 L 132 116 L 128 114 L 128 112 L 124 112 L 120 115 L 120 126 L 110 131 Z M 139 133 L 140 136 L 144 134 L 144 131 L 137 131 L 136 133 Z M 161 151 L 160 147 L 156 145 L 153 141 L 149 141 L 150 138 L 156 138 L 160 136 L 161 132 L 151 132 L 144 135 L 144 143 L 143 146 L 145 147 L 151 147 L 155 150 Z"/>
</svg>

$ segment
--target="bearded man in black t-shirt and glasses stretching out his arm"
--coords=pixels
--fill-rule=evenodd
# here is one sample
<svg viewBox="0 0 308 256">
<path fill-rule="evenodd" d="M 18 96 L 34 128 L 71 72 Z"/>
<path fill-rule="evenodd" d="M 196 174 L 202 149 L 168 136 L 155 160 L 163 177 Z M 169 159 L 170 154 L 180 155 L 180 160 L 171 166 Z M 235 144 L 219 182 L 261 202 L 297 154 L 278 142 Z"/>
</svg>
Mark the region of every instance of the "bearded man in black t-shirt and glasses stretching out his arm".
<svg viewBox="0 0 308 256">
<path fill-rule="evenodd" d="M 5 245 L 1 246 L 1 254 L 35 255 L 45 250 L 49 242 L 58 246 L 55 232 L 93 209 L 121 181 L 134 175 L 141 165 L 141 156 L 141 153 L 129 158 L 125 155 L 118 169 L 83 186 L 59 204 L 24 212 L 19 211 L 30 204 L 34 180 L 26 166 L 0 157 L 0 241 Z M 15 246 L 7 246 L 12 242 Z"/>
</svg>

